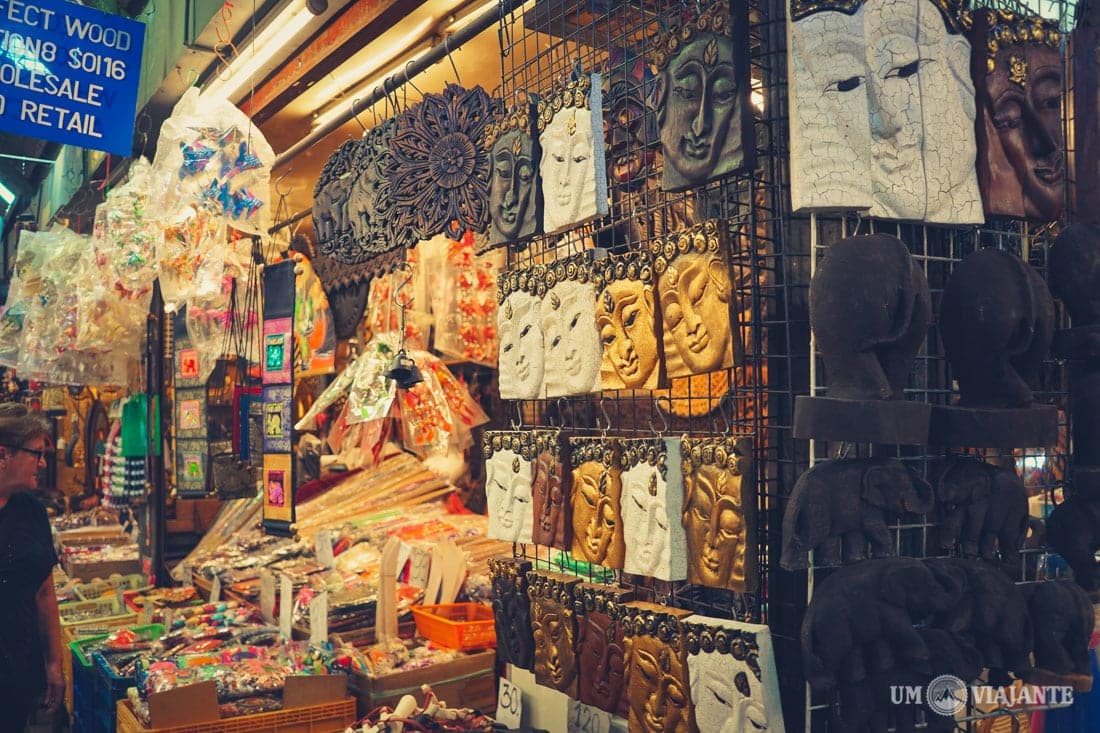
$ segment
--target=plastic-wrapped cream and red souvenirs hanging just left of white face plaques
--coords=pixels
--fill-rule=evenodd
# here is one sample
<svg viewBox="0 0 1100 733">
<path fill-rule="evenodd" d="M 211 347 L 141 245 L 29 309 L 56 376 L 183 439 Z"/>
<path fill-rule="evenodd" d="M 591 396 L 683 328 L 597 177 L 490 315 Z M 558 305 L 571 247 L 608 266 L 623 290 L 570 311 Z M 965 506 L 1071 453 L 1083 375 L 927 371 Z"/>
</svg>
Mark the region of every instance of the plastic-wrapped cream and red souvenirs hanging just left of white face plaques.
<svg viewBox="0 0 1100 733">
<path fill-rule="evenodd" d="M 446 357 L 496 365 L 496 276 L 506 252 L 477 255 L 479 237 L 484 234 L 468 231 L 458 241 L 421 242 L 419 271 L 431 302 L 432 347 Z"/>
</svg>

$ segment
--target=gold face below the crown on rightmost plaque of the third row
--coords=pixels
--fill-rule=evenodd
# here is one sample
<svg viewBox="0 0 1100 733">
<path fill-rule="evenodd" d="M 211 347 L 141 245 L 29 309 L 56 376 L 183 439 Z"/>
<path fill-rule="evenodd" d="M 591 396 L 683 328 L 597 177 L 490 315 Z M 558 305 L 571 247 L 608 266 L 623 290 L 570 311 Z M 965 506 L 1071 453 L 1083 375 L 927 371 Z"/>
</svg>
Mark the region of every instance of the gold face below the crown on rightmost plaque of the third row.
<svg viewBox="0 0 1100 733">
<path fill-rule="evenodd" d="M 741 475 L 704 463 L 684 471 L 682 523 L 688 535 L 688 581 L 747 590 L 747 526 Z"/>
</svg>

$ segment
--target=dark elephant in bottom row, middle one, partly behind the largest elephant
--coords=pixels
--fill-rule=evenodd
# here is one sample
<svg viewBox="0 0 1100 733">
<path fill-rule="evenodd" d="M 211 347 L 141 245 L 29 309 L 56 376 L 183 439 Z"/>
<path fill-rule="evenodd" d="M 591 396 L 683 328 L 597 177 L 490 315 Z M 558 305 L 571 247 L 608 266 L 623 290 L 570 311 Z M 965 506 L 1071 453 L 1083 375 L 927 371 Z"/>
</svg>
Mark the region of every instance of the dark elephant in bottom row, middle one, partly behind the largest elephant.
<svg viewBox="0 0 1100 733">
<path fill-rule="evenodd" d="M 1026 672 L 1031 668 L 1032 622 L 1020 587 L 983 560 L 933 558 L 924 562 L 945 586 L 963 586 L 963 592 L 933 617 L 932 625 L 972 643 L 991 675 Z"/>
</svg>

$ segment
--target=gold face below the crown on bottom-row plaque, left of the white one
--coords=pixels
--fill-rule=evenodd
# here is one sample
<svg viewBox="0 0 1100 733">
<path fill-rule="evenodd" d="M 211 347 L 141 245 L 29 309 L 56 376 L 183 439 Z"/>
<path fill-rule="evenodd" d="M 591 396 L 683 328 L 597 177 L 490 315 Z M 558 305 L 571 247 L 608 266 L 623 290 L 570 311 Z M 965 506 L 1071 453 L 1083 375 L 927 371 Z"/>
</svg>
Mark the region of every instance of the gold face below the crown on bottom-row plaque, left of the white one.
<svg viewBox="0 0 1100 733">
<path fill-rule="evenodd" d="M 667 644 L 656 636 L 628 636 L 625 646 L 630 730 L 691 731 L 688 664 L 679 645 Z"/>
</svg>

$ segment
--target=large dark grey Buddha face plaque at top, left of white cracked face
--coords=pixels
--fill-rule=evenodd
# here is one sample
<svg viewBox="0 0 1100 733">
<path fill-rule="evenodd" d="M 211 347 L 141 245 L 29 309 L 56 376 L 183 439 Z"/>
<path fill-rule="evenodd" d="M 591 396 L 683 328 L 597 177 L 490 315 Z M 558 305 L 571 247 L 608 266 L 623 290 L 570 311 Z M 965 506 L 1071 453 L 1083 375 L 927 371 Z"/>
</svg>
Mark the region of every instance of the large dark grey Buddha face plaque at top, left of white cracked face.
<svg viewBox="0 0 1100 733">
<path fill-rule="evenodd" d="M 730 4 L 737 13 L 730 17 Z M 755 163 L 744 3 L 710 2 L 672 26 L 653 52 L 661 187 L 701 186 Z"/>
</svg>

